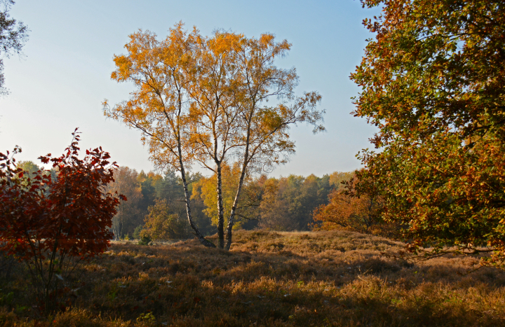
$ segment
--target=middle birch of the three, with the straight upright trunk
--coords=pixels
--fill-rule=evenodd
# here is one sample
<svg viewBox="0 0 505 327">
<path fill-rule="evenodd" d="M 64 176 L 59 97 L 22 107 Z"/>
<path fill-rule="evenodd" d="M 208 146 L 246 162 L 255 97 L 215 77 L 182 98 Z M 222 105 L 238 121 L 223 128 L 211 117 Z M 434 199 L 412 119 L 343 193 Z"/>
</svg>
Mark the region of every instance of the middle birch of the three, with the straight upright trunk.
<svg viewBox="0 0 505 327">
<path fill-rule="evenodd" d="M 237 50 L 243 36 L 217 31 L 211 38 L 198 37 L 194 66 L 188 83 L 191 102 L 191 144 L 194 158 L 216 178 L 217 238 L 224 247 L 222 169 L 237 144 L 241 113 L 241 71 Z"/>
</svg>

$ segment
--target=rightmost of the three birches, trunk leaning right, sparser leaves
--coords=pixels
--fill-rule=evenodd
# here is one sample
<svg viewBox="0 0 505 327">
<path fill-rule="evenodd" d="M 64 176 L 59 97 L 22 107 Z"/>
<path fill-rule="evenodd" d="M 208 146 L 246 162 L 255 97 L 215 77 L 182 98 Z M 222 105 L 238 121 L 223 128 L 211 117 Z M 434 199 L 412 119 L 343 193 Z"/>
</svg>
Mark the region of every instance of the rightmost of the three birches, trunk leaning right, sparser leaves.
<svg viewBox="0 0 505 327">
<path fill-rule="evenodd" d="M 243 181 L 255 169 L 269 170 L 281 165 L 295 153 L 295 142 L 289 130 L 297 123 L 314 125 L 314 133 L 325 128 L 321 125 L 324 111 L 318 111 L 321 102 L 318 92 L 305 92 L 295 97 L 298 84 L 296 69 L 281 69 L 274 64 L 283 57 L 291 44 L 276 42 L 272 34 L 262 34 L 259 39 L 244 39 L 238 53 L 238 64 L 243 81 L 241 108 L 238 123 L 236 158 L 241 162 L 241 175 L 231 207 L 227 226 L 227 244 L 231 246 L 232 230 Z M 269 99 L 278 104 L 269 106 Z"/>
</svg>

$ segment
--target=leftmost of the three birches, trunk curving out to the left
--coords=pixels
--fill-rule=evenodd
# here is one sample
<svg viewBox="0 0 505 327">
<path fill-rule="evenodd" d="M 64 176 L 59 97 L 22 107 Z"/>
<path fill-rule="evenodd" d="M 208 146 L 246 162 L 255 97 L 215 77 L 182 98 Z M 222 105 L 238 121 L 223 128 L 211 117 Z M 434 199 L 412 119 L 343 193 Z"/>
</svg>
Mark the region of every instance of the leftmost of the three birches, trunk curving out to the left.
<svg viewBox="0 0 505 327">
<path fill-rule="evenodd" d="M 136 32 L 126 44 L 127 55 L 114 56 L 116 70 L 112 79 L 130 81 L 136 90 L 128 101 L 109 106 L 105 116 L 119 120 L 142 132 L 143 144 L 149 145 L 150 160 L 157 167 L 172 167 L 180 172 L 189 225 L 198 240 L 214 247 L 201 235 L 193 221 L 187 186 L 187 167 L 191 167 L 194 151 L 189 135 L 189 98 L 187 70 L 198 37 L 196 29 L 188 34 L 182 23 L 170 29 L 163 41 L 151 32 Z"/>
</svg>

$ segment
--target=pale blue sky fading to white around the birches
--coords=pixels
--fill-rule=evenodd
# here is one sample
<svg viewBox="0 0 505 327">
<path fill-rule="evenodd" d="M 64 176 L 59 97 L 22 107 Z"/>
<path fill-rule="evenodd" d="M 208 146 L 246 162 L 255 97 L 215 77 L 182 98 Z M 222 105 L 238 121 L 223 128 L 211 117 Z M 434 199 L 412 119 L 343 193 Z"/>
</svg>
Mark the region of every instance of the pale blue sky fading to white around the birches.
<svg viewBox="0 0 505 327">
<path fill-rule="evenodd" d="M 356 153 L 371 147 L 375 127 L 350 114 L 360 89 L 349 75 L 361 62 L 365 39 L 373 37 L 362 21 L 379 14 L 360 1 L 16 0 L 10 13 L 30 30 L 23 55 L 5 60 L 10 94 L 0 97 L 0 152 L 18 145 L 17 160 L 40 164 L 40 155 L 60 155 L 79 127 L 81 149 L 102 146 L 121 166 L 152 170 L 140 132 L 106 119 L 102 102 L 116 104 L 134 90 L 110 78 L 112 58 L 125 53 L 128 35 L 142 29 L 163 39 L 180 21 L 203 35 L 215 29 L 248 37 L 268 32 L 292 43 L 276 64 L 296 67 L 297 94 L 322 95 L 327 131 L 314 135 L 311 126 L 292 127 L 296 153 L 270 176 L 349 172 L 361 167 Z"/>
</svg>

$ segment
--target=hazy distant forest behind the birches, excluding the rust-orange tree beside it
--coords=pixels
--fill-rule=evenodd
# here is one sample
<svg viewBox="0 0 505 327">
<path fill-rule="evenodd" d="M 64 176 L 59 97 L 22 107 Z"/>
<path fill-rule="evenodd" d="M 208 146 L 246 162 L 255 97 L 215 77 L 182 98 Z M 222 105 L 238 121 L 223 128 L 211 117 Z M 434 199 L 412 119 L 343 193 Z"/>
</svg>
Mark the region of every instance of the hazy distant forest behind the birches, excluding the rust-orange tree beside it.
<svg viewBox="0 0 505 327">
<path fill-rule="evenodd" d="M 37 167 L 32 161 L 20 162 L 27 172 L 35 172 Z M 236 167 L 224 167 L 223 193 L 224 211 L 228 213 L 233 202 L 232 187 Z M 287 177 L 268 177 L 262 175 L 248 179 L 245 183 L 243 198 L 236 222 L 236 229 L 253 230 L 310 230 L 314 209 L 321 204 L 328 204 L 328 195 L 332 190 L 343 188 L 341 183 L 349 180 L 352 172 L 333 172 L 322 177 L 290 175 Z M 149 217 L 156 218 L 178 226 L 165 226 L 172 229 L 170 238 L 192 237 L 191 227 L 187 223 L 184 191 L 180 177 L 168 170 L 164 174 L 144 171 L 137 172 L 129 167 L 119 167 L 114 174 L 114 183 L 109 191 L 126 195 L 127 201 L 119 205 L 118 214 L 114 216 L 112 230 L 116 239 L 139 238 Z M 194 219 L 203 235 L 217 232 L 217 213 L 215 202 L 217 193 L 215 176 L 205 177 L 199 173 L 190 175 L 189 192 L 191 193 L 191 210 Z M 175 220 L 168 220 L 172 216 Z M 177 228 L 178 227 L 178 228 Z"/>
</svg>

